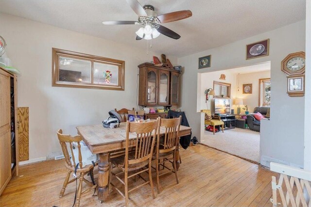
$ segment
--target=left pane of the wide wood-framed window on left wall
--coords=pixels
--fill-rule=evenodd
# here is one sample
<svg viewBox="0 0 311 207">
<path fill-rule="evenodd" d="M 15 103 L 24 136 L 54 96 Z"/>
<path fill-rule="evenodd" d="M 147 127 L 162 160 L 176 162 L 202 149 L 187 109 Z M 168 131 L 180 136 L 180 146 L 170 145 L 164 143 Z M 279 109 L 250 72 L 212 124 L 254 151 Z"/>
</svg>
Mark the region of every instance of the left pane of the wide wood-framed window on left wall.
<svg viewBox="0 0 311 207">
<path fill-rule="evenodd" d="M 59 81 L 91 83 L 91 61 L 59 57 Z"/>
</svg>

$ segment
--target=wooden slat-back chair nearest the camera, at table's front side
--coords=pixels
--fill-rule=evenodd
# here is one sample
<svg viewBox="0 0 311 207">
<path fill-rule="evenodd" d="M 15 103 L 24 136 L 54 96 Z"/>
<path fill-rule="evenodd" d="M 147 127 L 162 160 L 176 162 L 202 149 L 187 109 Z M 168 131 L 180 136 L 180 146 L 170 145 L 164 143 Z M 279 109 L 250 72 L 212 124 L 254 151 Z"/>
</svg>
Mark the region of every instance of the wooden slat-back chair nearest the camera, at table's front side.
<svg viewBox="0 0 311 207">
<path fill-rule="evenodd" d="M 152 161 L 152 153 L 155 145 L 155 139 L 158 137 L 158 125 L 159 118 L 155 121 L 144 122 L 144 123 L 134 123 L 127 121 L 126 123 L 126 141 L 125 141 L 125 156 L 112 158 L 110 159 L 110 178 L 111 175 L 114 175 L 123 185 L 124 185 L 124 194 L 120 189 L 118 189 L 112 182 L 111 179 L 109 181 L 109 185 L 116 189 L 124 198 L 125 205 L 128 207 L 128 193 L 138 189 L 139 187 L 149 184 L 151 187 L 152 197 L 155 198 L 154 185 L 152 182 L 151 175 L 151 161 Z M 129 151 L 129 134 L 136 133 L 135 138 L 135 151 Z M 121 170 L 121 172 L 114 173 L 112 172 L 113 166 Z M 129 175 L 131 172 L 132 175 Z M 149 181 L 145 180 L 140 174 L 143 172 L 148 172 Z M 124 180 L 122 180 L 119 174 L 124 174 Z M 128 190 L 128 179 L 138 175 L 146 182 L 134 187 L 131 190 Z"/>
</svg>

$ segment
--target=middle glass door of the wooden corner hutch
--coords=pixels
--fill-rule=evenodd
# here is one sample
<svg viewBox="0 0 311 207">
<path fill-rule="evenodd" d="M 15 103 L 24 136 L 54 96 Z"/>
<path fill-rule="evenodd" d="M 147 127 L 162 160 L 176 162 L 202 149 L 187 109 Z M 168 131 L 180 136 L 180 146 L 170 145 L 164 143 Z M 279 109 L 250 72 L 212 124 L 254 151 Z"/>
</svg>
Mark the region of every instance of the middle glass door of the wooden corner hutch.
<svg viewBox="0 0 311 207">
<path fill-rule="evenodd" d="M 170 72 L 159 70 L 159 105 L 169 105 Z"/>
</svg>

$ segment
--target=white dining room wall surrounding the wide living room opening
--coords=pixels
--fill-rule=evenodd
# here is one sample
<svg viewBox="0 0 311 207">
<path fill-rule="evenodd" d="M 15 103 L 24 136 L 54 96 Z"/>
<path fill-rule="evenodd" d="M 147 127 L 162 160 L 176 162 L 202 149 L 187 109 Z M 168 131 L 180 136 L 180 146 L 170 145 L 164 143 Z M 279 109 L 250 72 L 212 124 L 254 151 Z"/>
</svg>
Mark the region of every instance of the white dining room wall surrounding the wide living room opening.
<svg viewBox="0 0 311 207">
<path fill-rule="evenodd" d="M 303 166 L 304 97 L 289 97 L 286 94 L 287 79 L 280 70 L 280 63 L 289 53 L 305 50 L 305 24 L 305 21 L 299 21 L 219 48 L 178 58 L 178 64 L 184 66 L 180 108 L 186 111 L 190 126 L 193 128 L 192 135 L 200 137 L 202 133 L 201 116 L 196 110 L 197 73 L 271 61 L 271 120 L 267 121 L 269 124 L 263 124 L 261 127 L 260 162 L 268 165 L 269 160 L 276 159 L 279 162 Z M 270 38 L 269 56 L 245 60 L 245 45 L 267 38 Z M 210 54 L 213 59 L 211 67 L 198 70 L 198 58 Z"/>
</svg>

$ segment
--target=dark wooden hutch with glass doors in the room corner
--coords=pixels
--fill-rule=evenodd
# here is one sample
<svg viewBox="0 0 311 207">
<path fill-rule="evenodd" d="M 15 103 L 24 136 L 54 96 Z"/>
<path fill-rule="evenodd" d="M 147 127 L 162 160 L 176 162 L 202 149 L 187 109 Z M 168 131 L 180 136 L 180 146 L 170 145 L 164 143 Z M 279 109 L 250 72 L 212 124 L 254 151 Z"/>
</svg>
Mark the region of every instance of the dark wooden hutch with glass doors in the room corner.
<svg viewBox="0 0 311 207">
<path fill-rule="evenodd" d="M 173 106 L 179 103 L 179 71 L 155 66 L 138 65 L 140 106 Z"/>
</svg>

